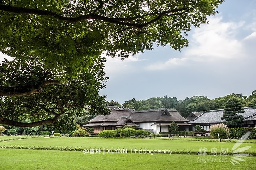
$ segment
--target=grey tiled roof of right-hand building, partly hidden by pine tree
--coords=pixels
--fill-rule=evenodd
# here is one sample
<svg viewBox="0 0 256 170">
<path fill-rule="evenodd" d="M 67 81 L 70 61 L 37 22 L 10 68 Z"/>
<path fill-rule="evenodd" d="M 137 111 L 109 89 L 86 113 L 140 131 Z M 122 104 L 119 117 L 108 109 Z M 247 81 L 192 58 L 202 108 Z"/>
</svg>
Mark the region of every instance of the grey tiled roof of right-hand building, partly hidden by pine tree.
<svg viewBox="0 0 256 170">
<path fill-rule="evenodd" d="M 252 115 L 255 115 L 256 113 L 256 107 L 244 107 L 244 113 L 240 113 L 239 115 L 242 115 L 244 117 L 244 121 L 246 118 L 251 117 Z M 223 116 L 224 109 L 220 110 L 211 110 L 211 111 L 203 111 L 203 113 L 196 117 L 195 119 L 189 121 L 189 124 L 198 124 L 198 123 L 221 123 L 225 120 L 221 120 L 221 117 Z"/>
</svg>

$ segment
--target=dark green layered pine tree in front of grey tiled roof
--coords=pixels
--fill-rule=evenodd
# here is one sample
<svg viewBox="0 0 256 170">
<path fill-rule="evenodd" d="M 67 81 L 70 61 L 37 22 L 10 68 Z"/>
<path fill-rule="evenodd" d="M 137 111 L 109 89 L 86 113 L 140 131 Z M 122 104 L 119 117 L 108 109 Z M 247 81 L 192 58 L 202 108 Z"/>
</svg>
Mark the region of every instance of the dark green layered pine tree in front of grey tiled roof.
<svg viewBox="0 0 256 170">
<path fill-rule="evenodd" d="M 225 120 L 224 124 L 229 128 L 242 127 L 243 116 L 238 115 L 238 113 L 244 113 L 244 109 L 241 107 L 243 107 L 243 105 L 237 100 L 237 98 L 230 98 L 230 100 L 226 102 L 223 117 L 221 117 L 221 119 Z"/>
</svg>

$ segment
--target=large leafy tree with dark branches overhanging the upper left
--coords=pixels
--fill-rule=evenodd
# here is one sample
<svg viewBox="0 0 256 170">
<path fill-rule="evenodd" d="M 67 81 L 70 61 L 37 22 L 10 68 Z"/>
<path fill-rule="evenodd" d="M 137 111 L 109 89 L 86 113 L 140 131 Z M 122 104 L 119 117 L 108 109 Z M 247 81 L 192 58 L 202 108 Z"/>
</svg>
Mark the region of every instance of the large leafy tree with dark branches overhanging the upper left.
<svg viewBox="0 0 256 170">
<path fill-rule="evenodd" d="M 98 90 L 105 59 L 169 45 L 188 46 L 191 26 L 208 23 L 223 0 L 1 0 L 0 123 L 68 126 L 107 114 Z"/>
</svg>

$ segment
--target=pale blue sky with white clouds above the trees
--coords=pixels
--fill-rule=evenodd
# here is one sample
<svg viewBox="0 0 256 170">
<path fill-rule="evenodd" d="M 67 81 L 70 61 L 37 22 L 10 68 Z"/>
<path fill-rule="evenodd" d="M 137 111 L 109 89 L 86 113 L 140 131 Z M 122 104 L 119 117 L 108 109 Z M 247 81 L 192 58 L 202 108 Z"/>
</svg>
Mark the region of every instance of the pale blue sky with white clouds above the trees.
<svg viewBox="0 0 256 170">
<path fill-rule="evenodd" d="M 192 27 L 189 47 L 181 51 L 154 47 L 124 61 L 107 57 L 109 81 L 99 94 L 120 104 L 164 96 L 249 96 L 256 90 L 255 7 L 255 0 L 226 0 L 209 24 Z"/>
</svg>

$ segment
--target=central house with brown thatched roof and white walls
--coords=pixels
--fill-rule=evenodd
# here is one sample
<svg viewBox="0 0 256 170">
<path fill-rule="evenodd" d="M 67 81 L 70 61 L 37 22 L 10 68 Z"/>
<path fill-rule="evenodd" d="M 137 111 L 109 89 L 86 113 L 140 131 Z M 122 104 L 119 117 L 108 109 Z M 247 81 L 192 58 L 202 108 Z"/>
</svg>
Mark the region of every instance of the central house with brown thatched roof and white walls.
<svg viewBox="0 0 256 170">
<path fill-rule="evenodd" d="M 102 130 L 114 130 L 122 128 L 124 125 L 134 125 L 144 130 L 154 133 L 168 132 L 172 121 L 180 126 L 180 130 L 189 131 L 190 124 L 187 119 L 182 117 L 175 109 L 151 109 L 144 111 L 135 111 L 133 108 L 109 107 L 109 115 L 98 115 L 90 120 L 84 127 L 94 127 L 94 133 Z"/>
</svg>

